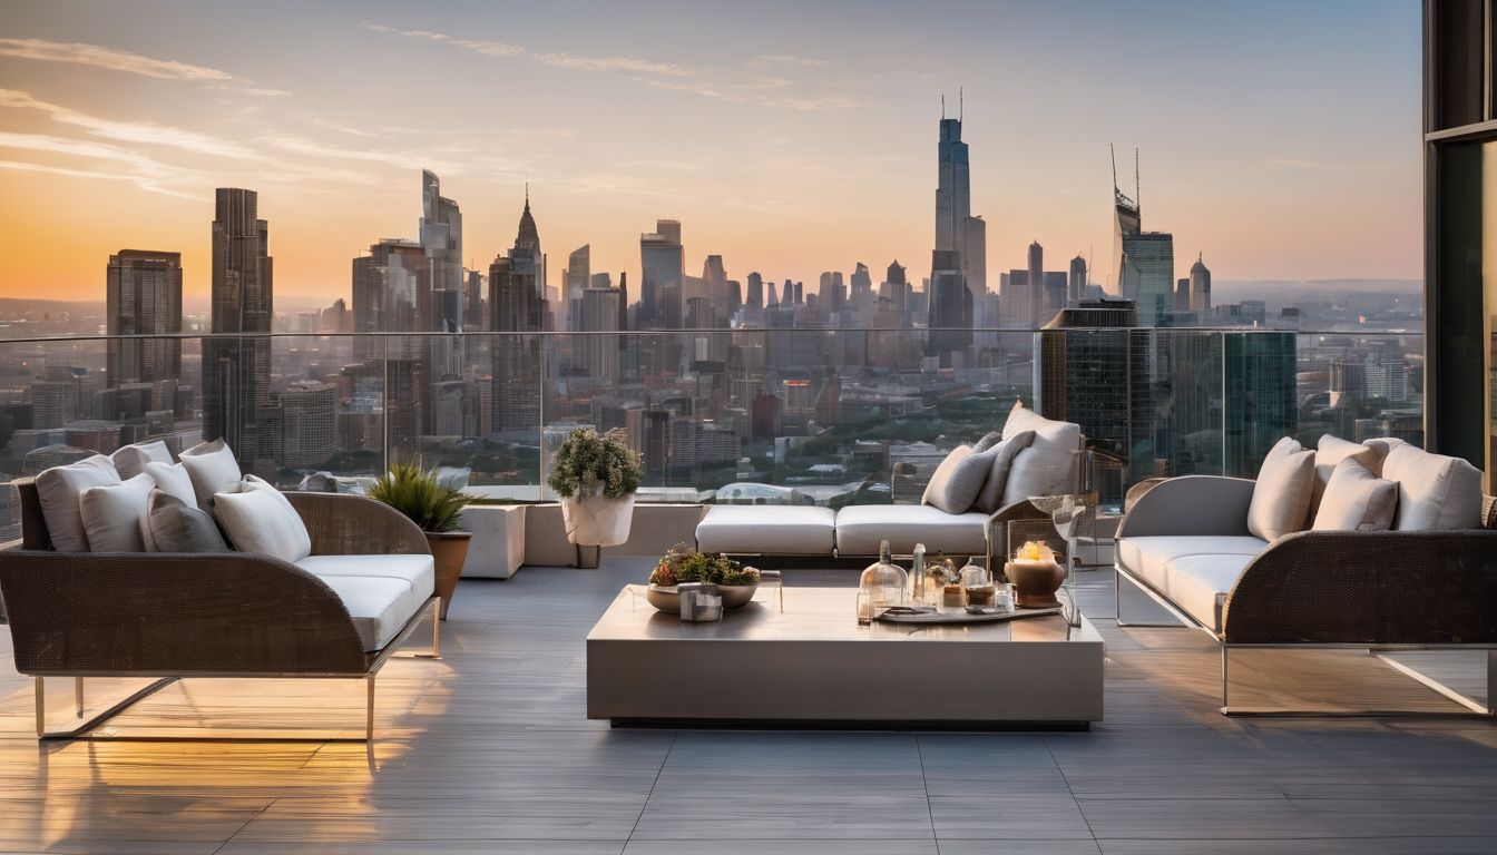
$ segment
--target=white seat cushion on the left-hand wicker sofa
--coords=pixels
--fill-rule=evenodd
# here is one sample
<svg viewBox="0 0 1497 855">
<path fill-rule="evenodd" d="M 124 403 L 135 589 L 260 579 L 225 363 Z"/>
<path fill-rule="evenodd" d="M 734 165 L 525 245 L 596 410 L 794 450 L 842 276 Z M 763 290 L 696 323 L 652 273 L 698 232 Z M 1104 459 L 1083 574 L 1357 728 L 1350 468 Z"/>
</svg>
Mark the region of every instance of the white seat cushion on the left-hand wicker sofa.
<svg viewBox="0 0 1497 855">
<path fill-rule="evenodd" d="M 338 594 L 368 651 L 383 650 L 436 590 L 431 556 L 308 556 L 296 566 Z"/>
</svg>

